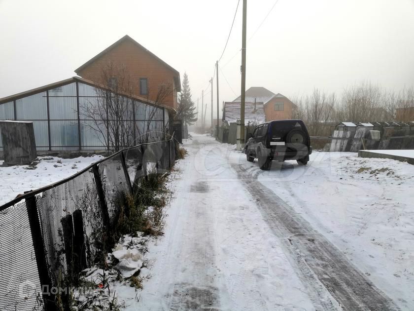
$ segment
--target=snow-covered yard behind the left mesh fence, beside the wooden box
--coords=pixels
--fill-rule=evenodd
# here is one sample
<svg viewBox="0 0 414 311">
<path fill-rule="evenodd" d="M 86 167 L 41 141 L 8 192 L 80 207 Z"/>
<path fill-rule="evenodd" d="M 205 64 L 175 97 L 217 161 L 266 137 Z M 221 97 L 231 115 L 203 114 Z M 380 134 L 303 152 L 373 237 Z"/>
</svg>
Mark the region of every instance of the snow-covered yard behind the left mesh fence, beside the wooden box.
<svg viewBox="0 0 414 311">
<path fill-rule="evenodd" d="M 1 166 L 0 161 L 0 205 L 14 199 L 17 194 L 35 190 L 60 181 L 102 159 L 102 156 L 80 156 L 63 159 L 56 156 L 39 156 L 35 166 Z"/>
</svg>

